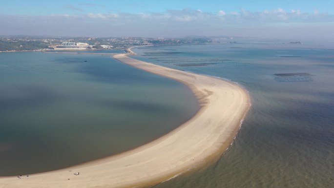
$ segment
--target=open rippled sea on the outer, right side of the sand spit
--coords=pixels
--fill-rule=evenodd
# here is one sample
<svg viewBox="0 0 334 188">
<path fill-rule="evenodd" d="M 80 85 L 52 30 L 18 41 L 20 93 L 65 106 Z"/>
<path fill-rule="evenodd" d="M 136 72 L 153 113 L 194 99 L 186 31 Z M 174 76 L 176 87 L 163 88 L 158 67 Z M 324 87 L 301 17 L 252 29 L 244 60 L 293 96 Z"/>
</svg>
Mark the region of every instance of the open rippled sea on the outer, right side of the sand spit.
<svg viewBox="0 0 334 188">
<path fill-rule="evenodd" d="M 153 188 L 333 188 L 331 44 L 237 41 L 134 48 L 133 58 L 229 79 L 251 97 L 239 134 L 218 161 Z"/>
</svg>

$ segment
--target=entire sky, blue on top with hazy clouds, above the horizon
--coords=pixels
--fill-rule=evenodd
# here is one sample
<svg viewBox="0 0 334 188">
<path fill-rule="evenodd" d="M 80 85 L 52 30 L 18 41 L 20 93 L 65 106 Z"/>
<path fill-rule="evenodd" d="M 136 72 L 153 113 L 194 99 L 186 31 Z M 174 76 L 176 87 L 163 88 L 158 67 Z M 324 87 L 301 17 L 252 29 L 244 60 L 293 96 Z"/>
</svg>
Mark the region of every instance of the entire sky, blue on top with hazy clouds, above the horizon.
<svg viewBox="0 0 334 188">
<path fill-rule="evenodd" d="M 334 0 L 3 0 L 0 35 L 333 38 Z"/>
</svg>

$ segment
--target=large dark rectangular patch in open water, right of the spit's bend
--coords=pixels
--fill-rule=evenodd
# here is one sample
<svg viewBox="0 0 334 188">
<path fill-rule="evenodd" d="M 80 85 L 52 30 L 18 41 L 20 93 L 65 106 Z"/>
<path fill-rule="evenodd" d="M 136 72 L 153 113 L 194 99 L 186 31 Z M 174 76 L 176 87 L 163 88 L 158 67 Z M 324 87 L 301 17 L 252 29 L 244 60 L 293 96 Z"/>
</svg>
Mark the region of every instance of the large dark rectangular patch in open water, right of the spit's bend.
<svg viewBox="0 0 334 188">
<path fill-rule="evenodd" d="M 276 82 L 311 82 L 312 74 L 306 72 L 274 74 Z"/>
</svg>

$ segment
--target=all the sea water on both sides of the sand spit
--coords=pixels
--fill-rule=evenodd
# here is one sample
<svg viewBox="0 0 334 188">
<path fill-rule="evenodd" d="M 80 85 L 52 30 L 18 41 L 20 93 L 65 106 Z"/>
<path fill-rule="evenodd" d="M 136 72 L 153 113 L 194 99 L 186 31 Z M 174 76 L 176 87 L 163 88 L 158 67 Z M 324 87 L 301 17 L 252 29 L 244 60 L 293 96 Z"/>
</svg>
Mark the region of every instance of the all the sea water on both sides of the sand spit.
<svg viewBox="0 0 334 188">
<path fill-rule="evenodd" d="M 236 82 L 251 107 L 219 159 L 153 188 L 333 188 L 334 41 L 225 40 L 132 58 Z M 110 55 L 0 54 L 0 175 L 140 146 L 198 110 L 184 85 Z"/>
</svg>

